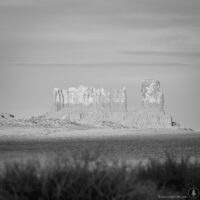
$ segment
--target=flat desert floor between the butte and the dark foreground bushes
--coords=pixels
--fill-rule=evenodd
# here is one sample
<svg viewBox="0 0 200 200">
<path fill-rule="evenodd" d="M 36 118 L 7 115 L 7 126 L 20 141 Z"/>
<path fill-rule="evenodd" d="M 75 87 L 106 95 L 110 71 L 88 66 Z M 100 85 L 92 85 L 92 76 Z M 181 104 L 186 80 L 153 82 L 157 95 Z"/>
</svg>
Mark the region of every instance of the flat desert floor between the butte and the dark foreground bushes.
<svg viewBox="0 0 200 200">
<path fill-rule="evenodd" d="M 181 130 L 132 130 L 64 128 L 1 128 L 0 163 L 55 154 L 80 153 L 83 149 L 110 158 L 145 160 L 175 156 L 200 158 L 200 133 Z"/>
</svg>

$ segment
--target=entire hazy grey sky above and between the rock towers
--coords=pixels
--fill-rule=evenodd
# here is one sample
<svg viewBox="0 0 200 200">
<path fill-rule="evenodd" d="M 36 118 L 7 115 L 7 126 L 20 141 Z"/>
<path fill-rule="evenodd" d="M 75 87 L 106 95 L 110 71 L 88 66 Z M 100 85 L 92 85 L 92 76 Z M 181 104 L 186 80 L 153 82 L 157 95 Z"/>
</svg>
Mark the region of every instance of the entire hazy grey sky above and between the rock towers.
<svg viewBox="0 0 200 200">
<path fill-rule="evenodd" d="M 161 82 L 165 111 L 200 130 L 199 0 L 0 0 L 0 111 L 48 111 L 54 87 Z"/>
</svg>

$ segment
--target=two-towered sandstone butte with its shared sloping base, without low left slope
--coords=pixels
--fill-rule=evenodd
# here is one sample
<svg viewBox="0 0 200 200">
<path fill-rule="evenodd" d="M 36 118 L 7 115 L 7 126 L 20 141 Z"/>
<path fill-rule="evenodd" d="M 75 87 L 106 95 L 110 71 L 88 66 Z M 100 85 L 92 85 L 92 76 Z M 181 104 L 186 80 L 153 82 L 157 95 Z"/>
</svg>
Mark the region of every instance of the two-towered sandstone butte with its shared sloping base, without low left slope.
<svg viewBox="0 0 200 200">
<path fill-rule="evenodd" d="M 126 88 L 108 92 L 105 89 L 79 86 L 69 89 L 54 88 L 54 109 L 49 117 L 76 122 L 109 121 L 128 127 L 172 128 L 176 125 L 164 111 L 164 94 L 160 82 L 145 79 L 141 84 L 141 109 L 129 112 Z"/>
</svg>

